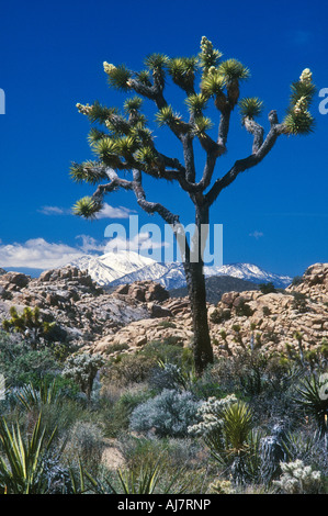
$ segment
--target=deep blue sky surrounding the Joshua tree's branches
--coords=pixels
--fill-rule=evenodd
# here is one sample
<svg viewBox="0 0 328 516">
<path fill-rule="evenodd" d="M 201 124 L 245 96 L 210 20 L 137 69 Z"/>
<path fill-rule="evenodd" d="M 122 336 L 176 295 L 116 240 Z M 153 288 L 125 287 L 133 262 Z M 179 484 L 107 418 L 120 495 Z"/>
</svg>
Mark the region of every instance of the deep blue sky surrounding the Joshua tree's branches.
<svg viewBox="0 0 328 516">
<path fill-rule="evenodd" d="M 16 1 L 1 7 L 1 22 L 0 267 L 5 269 L 49 268 L 84 251 L 100 253 L 105 227 L 125 224 L 129 211 L 139 215 L 140 225 L 162 224 L 156 216 L 149 220 L 127 192 L 108 197 L 106 211 L 95 222 L 70 214 L 72 204 L 91 193 L 69 178 L 71 161 L 92 157 L 90 126 L 76 103 L 99 100 L 120 108 L 124 102 L 108 87 L 104 60 L 140 70 L 152 52 L 197 54 L 205 35 L 224 58 L 250 68 L 241 96 L 263 100 L 265 130 L 271 109 L 280 120 L 284 116 L 290 85 L 304 68 L 312 69 L 318 91 L 328 88 L 326 10 L 317 0 Z M 183 112 L 174 91 L 168 91 L 168 100 Z M 280 137 L 264 161 L 240 175 L 214 204 L 212 222 L 224 228 L 224 263 L 253 262 L 297 276 L 328 261 L 328 114 L 320 114 L 320 101 L 317 94 L 314 134 Z M 180 152 L 165 131 L 157 135 L 160 148 Z M 217 175 L 250 149 L 236 111 Z M 202 156 L 197 162 L 201 173 Z M 193 222 L 192 206 L 178 187 L 152 180 L 146 186 L 149 200 L 181 213 L 183 223 Z"/>
</svg>

